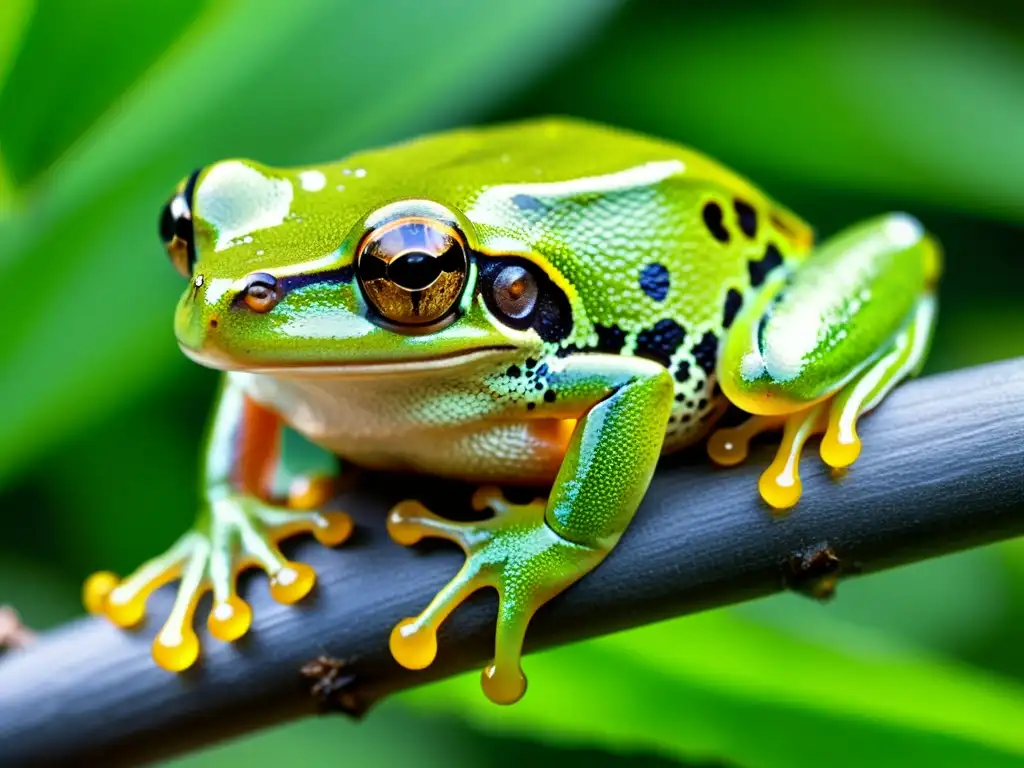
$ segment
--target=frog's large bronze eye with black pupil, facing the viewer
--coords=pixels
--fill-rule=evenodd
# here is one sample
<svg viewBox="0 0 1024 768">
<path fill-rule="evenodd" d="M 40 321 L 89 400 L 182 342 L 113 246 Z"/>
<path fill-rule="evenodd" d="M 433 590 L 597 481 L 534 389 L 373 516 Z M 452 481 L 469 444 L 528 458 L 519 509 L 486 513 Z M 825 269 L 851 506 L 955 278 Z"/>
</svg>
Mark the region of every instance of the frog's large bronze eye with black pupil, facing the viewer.
<svg viewBox="0 0 1024 768">
<path fill-rule="evenodd" d="M 410 216 L 370 232 L 359 248 L 359 284 L 381 315 L 398 326 L 425 326 L 452 311 L 466 286 L 462 236 L 441 221 Z"/>
</svg>

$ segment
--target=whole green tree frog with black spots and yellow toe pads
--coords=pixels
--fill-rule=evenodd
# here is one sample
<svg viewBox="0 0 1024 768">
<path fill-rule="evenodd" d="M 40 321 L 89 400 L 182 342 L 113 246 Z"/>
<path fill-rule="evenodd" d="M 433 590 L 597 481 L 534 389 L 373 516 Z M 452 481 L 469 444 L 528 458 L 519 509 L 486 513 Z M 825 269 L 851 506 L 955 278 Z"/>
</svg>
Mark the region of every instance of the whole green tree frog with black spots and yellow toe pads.
<svg viewBox="0 0 1024 768">
<path fill-rule="evenodd" d="M 846 471 L 860 418 L 924 364 L 942 261 L 909 214 L 818 243 L 710 157 L 572 118 L 434 133 L 322 165 L 220 161 L 177 185 L 160 230 L 187 281 L 178 345 L 222 372 L 199 514 L 127 578 L 90 578 L 86 606 L 131 627 L 177 581 L 153 657 L 180 672 L 200 655 L 205 593 L 210 635 L 249 631 L 241 569 L 262 568 L 280 602 L 305 598 L 315 572 L 280 542 L 312 534 L 334 547 L 353 523 L 324 511 L 323 478 L 299 474 L 287 498 L 271 493 L 291 429 L 342 466 L 478 488 L 481 519 L 415 499 L 387 512 L 398 545 L 441 539 L 465 553 L 387 643 L 402 667 L 425 669 L 452 611 L 496 590 L 480 679 L 498 703 L 525 691 L 532 616 L 612 551 L 663 456 L 706 441 L 714 462 L 734 465 L 755 436 L 780 432 L 758 482 L 776 515 L 802 494 L 812 436 Z M 723 426 L 727 412 L 742 418 Z M 511 486 L 536 498 L 510 501 Z"/>
</svg>

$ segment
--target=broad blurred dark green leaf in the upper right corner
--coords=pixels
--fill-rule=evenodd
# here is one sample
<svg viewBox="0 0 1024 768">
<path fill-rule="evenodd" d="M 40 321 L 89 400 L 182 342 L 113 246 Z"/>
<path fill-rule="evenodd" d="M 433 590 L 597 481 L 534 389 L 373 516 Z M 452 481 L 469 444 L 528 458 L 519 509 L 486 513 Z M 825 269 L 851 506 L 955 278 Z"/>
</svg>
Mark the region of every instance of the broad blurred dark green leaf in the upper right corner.
<svg viewBox="0 0 1024 768">
<path fill-rule="evenodd" d="M 1011 31 L 931 6 L 631 7 L 601 55 L 564 69 L 532 109 L 675 138 L 761 183 L 1024 221 L 1024 48 Z"/>
</svg>

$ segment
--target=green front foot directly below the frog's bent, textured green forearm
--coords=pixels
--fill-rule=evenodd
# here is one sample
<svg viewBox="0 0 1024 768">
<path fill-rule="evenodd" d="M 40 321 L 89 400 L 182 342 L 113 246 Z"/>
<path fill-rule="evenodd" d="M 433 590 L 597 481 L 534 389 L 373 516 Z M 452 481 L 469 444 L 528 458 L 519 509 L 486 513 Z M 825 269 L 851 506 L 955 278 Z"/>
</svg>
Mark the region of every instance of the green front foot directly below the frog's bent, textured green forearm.
<svg viewBox="0 0 1024 768">
<path fill-rule="evenodd" d="M 477 511 L 495 516 L 478 522 L 454 522 L 407 501 L 388 515 L 387 528 L 398 544 L 425 537 L 447 539 L 466 553 L 466 563 L 422 613 L 399 622 L 391 632 L 391 654 L 402 667 L 422 670 L 437 653 L 437 629 L 447 615 L 481 587 L 498 590 L 495 658 L 481 683 L 496 703 L 513 703 L 526 691 L 519 665 L 523 637 L 534 613 L 548 600 L 593 568 L 603 551 L 573 544 L 545 522 L 544 500 L 512 504 L 498 488 L 473 496 Z"/>
</svg>

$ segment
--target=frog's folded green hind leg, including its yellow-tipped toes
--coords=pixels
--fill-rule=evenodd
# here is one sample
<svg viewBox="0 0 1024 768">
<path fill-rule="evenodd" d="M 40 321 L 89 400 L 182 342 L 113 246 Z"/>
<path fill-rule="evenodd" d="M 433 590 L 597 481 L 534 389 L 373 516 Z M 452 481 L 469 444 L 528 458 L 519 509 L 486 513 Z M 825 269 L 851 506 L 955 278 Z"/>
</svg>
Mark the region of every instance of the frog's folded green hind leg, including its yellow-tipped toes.
<svg viewBox="0 0 1024 768">
<path fill-rule="evenodd" d="M 754 414 L 709 440 L 711 457 L 732 465 L 760 432 L 782 428 L 782 443 L 761 476 L 775 509 L 800 499 L 800 455 L 824 433 L 821 458 L 856 461 L 857 419 L 925 358 L 935 319 L 941 257 L 909 216 L 892 214 L 825 243 L 796 273 L 780 275 L 729 331 L 718 360 L 725 395 Z"/>
</svg>

